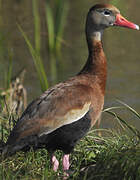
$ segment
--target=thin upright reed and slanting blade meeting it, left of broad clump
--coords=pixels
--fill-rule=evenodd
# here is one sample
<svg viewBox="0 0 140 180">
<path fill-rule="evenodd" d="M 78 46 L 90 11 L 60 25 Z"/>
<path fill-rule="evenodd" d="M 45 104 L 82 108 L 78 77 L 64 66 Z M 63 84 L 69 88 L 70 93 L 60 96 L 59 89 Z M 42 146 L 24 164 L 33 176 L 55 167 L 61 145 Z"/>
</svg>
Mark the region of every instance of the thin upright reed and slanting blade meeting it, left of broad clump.
<svg viewBox="0 0 140 180">
<path fill-rule="evenodd" d="M 38 74 L 38 78 L 40 81 L 40 87 L 42 91 L 45 91 L 48 88 L 48 80 L 45 72 L 45 67 L 43 65 L 42 57 L 41 57 L 41 37 L 40 37 L 40 28 L 41 22 L 39 17 L 39 9 L 38 9 L 38 1 L 32 0 L 33 6 L 33 16 L 34 16 L 34 39 L 35 39 L 35 47 L 32 45 L 31 41 L 22 30 L 21 26 L 18 25 L 18 28 L 23 35 L 25 42 L 28 46 L 28 49 L 32 55 L 34 65 Z"/>
</svg>

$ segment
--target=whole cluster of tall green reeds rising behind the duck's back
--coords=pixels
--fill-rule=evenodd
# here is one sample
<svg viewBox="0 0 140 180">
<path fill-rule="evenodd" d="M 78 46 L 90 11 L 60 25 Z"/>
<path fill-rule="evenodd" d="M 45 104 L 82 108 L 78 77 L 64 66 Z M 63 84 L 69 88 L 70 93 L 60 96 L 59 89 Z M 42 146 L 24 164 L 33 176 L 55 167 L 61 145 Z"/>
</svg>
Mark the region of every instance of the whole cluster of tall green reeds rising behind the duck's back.
<svg viewBox="0 0 140 180">
<path fill-rule="evenodd" d="M 41 55 L 41 19 L 39 12 L 39 1 L 32 0 L 32 10 L 34 17 L 34 45 L 31 40 L 28 38 L 24 30 L 18 24 L 18 29 L 21 32 L 29 52 L 32 56 L 37 75 L 40 81 L 40 87 L 42 92 L 44 92 L 50 84 L 57 82 L 57 65 L 58 60 L 61 59 L 61 46 L 62 38 L 64 34 L 64 26 L 66 23 L 67 17 L 67 0 L 55 0 L 52 3 L 50 0 L 45 2 L 45 17 L 46 17 L 46 27 L 47 27 L 47 52 L 48 52 L 48 61 L 50 63 L 50 75 L 51 81 L 48 82 L 48 78 L 45 72 L 45 66 L 43 64 L 43 58 Z M 59 61 L 59 66 L 62 65 L 62 62 Z"/>
</svg>

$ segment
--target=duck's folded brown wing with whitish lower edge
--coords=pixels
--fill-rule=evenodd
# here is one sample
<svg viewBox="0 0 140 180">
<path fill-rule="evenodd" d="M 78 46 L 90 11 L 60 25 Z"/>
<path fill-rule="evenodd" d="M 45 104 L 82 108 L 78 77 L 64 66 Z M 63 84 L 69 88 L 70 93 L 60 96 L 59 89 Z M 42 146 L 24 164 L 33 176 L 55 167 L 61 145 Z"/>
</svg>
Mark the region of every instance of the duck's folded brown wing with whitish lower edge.
<svg viewBox="0 0 140 180">
<path fill-rule="evenodd" d="M 28 136 L 49 134 L 81 119 L 90 110 L 91 89 L 85 85 L 61 83 L 33 101 L 7 141 L 12 144 Z"/>
</svg>

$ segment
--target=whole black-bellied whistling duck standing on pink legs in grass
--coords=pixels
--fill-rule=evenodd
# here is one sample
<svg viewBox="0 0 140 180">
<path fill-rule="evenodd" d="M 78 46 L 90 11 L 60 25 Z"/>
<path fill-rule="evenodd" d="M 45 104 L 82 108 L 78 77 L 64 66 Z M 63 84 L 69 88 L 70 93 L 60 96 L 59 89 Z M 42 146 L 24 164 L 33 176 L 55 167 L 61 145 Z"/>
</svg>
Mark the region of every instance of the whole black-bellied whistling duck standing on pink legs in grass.
<svg viewBox="0 0 140 180">
<path fill-rule="evenodd" d="M 69 154 L 94 126 L 103 109 L 107 66 L 101 38 L 104 29 L 113 26 L 139 29 L 112 5 L 98 4 L 89 10 L 86 20 L 89 56 L 85 66 L 76 76 L 48 89 L 28 105 L 11 131 L 3 156 L 30 147 L 46 148 L 50 153 L 60 149 L 65 154 L 63 168 L 69 169 Z M 54 155 L 52 163 L 57 171 L 59 163 Z"/>
</svg>

